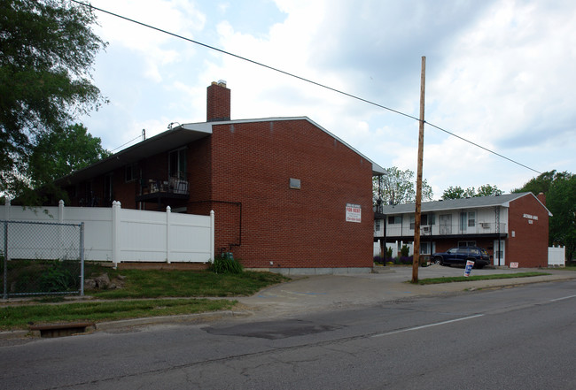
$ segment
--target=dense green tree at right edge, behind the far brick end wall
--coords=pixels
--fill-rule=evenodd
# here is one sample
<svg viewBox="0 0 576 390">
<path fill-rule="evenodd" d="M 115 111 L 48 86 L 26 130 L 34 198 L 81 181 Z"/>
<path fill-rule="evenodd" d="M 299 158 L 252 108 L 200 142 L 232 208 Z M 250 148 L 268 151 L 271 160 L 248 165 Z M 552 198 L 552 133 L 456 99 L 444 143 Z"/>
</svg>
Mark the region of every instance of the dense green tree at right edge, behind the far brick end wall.
<svg viewBox="0 0 576 390">
<path fill-rule="evenodd" d="M 549 245 L 566 248 L 566 258 L 576 256 L 576 175 L 549 171 L 526 182 L 513 192 L 546 195 L 546 207 L 552 213 L 549 225 Z"/>
</svg>

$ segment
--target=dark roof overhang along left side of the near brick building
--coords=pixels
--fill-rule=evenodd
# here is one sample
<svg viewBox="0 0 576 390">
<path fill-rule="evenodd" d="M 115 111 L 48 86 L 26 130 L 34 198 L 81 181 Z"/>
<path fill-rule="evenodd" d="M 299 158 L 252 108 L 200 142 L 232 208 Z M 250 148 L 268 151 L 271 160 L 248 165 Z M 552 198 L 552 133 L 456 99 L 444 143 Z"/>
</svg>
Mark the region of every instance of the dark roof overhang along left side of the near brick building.
<svg viewBox="0 0 576 390">
<path fill-rule="evenodd" d="M 138 142 L 136 145 L 132 145 L 127 149 L 122 149 L 111 157 L 102 159 L 95 164 L 91 164 L 86 168 L 60 178 L 56 180 L 56 184 L 60 186 L 69 186 L 71 184 L 82 182 L 83 180 L 89 180 L 95 176 L 112 172 L 122 166 L 136 163 L 146 157 L 180 148 L 183 145 L 212 134 L 212 126 L 201 125 L 204 124 L 177 126 L 171 130 L 154 135 L 153 137 Z"/>
</svg>

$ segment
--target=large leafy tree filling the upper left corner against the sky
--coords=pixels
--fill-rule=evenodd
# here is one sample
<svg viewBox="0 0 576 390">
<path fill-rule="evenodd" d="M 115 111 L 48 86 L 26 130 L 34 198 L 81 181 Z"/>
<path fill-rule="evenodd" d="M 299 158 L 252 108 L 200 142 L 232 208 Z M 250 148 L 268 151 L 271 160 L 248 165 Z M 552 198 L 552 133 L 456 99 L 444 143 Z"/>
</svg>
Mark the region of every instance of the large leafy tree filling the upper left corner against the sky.
<svg viewBox="0 0 576 390">
<path fill-rule="evenodd" d="M 105 42 L 90 7 L 66 0 L 0 0 L 0 192 L 19 195 L 29 157 L 105 98 L 90 70 Z"/>
</svg>

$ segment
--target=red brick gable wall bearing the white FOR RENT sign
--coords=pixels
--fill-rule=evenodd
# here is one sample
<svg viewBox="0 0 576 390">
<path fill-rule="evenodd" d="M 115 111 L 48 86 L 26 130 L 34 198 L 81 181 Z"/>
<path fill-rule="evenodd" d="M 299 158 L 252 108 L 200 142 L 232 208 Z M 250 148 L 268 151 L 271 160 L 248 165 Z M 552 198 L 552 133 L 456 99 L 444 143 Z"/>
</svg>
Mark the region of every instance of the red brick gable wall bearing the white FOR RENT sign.
<svg viewBox="0 0 576 390">
<path fill-rule="evenodd" d="M 246 267 L 370 267 L 370 162 L 307 120 L 218 125 L 212 135 L 216 248 Z M 300 179 L 301 189 L 289 187 Z M 346 222 L 346 203 L 362 223 Z M 237 229 L 237 227 L 236 227 Z"/>
</svg>

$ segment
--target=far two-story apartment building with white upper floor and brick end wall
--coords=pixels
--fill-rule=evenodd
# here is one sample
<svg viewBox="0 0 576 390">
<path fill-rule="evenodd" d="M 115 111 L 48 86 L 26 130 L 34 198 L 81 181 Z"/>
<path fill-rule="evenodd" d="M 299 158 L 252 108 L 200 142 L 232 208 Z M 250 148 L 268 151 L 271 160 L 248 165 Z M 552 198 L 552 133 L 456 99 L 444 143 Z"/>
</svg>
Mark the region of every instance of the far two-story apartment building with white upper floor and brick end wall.
<svg viewBox="0 0 576 390">
<path fill-rule="evenodd" d="M 401 247 L 414 240 L 415 205 L 381 206 L 375 238 Z M 546 197 L 530 192 L 422 203 L 420 255 L 453 247 L 485 248 L 494 265 L 548 266 L 549 217 Z M 400 250 L 400 248 L 397 248 Z"/>
</svg>

